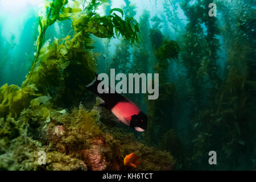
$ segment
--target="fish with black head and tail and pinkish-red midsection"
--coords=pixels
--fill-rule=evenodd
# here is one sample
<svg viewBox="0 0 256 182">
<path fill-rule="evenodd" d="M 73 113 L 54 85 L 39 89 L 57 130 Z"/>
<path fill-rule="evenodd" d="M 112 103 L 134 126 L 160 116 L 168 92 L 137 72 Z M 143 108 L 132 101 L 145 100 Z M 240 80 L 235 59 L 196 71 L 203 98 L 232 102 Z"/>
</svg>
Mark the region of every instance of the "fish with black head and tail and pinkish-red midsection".
<svg viewBox="0 0 256 182">
<path fill-rule="evenodd" d="M 97 80 L 97 77 L 96 74 L 96 78 L 90 84 L 83 86 L 103 100 L 100 106 L 111 110 L 115 117 L 125 125 L 139 132 L 145 131 L 147 129 L 147 115 L 121 94 L 117 92 L 110 93 L 110 90 L 113 90 L 110 87 L 108 88 L 109 93 L 98 93 L 97 88 L 101 81 Z"/>
</svg>

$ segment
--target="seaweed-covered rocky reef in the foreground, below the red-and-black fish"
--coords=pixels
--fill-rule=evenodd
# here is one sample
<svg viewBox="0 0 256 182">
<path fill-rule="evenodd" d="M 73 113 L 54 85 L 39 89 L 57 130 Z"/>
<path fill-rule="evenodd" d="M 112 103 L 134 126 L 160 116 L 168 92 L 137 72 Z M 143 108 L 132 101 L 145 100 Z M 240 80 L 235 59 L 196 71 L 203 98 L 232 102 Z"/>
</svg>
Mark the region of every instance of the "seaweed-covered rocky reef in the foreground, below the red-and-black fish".
<svg viewBox="0 0 256 182">
<path fill-rule="evenodd" d="M 53 109 L 51 97 L 31 101 L 19 117 L 0 120 L 1 170 L 170 170 L 175 159 L 138 141 L 123 129 L 108 127 L 101 107 Z M 101 117 L 104 115 L 104 117 Z M 39 152 L 46 163 L 40 164 Z M 123 156 L 135 152 L 141 164 L 125 166 Z"/>
</svg>

